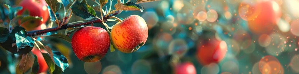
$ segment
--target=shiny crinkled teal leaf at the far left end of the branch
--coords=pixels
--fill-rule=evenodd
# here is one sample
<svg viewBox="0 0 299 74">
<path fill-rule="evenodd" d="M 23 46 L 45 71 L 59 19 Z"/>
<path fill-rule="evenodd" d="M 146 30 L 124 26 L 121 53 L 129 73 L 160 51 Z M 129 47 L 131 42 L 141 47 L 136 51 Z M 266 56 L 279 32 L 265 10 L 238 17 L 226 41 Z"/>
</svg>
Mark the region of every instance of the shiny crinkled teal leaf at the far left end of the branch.
<svg viewBox="0 0 299 74">
<path fill-rule="evenodd" d="M 15 34 L 16 36 L 16 45 L 17 45 L 17 51 L 19 51 L 21 48 L 25 48 L 27 46 L 33 47 L 34 46 L 34 40 L 31 37 L 26 37 L 26 31 L 21 30 L 21 32 L 17 32 Z"/>
</svg>

